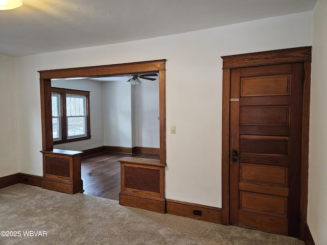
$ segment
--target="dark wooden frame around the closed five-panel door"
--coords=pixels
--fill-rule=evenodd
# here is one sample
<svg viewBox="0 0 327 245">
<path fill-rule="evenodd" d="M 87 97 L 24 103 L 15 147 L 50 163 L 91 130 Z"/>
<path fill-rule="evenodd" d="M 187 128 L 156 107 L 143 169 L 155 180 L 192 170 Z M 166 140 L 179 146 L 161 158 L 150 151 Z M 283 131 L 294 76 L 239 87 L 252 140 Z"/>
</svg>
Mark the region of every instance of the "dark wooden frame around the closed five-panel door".
<svg viewBox="0 0 327 245">
<path fill-rule="evenodd" d="M 233 68 L 304 63 L 303 106 L 302 106 L 302 155 L 299 239 L 304 240 L 308 206 L 308 167 L 309 167 L 309 112 L 311 86 L 311 46 L 287 48 L 258 53 L 222 56 L 222 224 L 229 225 L 229 113 L 230 113 L 230 70 Z"/>
</svg>

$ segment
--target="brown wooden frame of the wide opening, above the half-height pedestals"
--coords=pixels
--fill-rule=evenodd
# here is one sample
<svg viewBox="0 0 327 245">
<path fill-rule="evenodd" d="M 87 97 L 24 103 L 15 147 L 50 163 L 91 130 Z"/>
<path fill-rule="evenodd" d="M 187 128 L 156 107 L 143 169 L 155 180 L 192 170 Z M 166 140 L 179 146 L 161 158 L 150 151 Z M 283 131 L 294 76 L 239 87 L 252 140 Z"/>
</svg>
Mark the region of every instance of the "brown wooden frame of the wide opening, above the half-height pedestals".
<svg viewBox="0 0 327 245">
<path fill-rule="evenodd" d="M 40 74 L 42 150 L 53 151 L 51 79 L 54 78 L 99 78 L 118 75 L 136 75 L 145 72 L 159 73 L 159 131 L 160 164 L 166 165 L 166 60 L 153 60 L 124 64 L 65 68 L 38 71 Z"/>
</svg>

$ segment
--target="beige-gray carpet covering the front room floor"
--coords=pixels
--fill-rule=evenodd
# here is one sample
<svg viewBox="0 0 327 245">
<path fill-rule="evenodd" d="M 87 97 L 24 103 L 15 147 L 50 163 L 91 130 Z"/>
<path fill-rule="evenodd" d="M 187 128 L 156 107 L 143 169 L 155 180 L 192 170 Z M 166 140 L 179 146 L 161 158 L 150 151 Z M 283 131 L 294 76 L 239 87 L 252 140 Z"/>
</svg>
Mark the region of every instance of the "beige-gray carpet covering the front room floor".
<svg viewBox="0 0 327 245">
<path fill-rule="evenodd" d="M 0 236 L 1 245 L 304 244 L 292 237 L 159 214 L 121 206 L 118 201 L 81 193 L 69 195 L 25 184 L 0 189 L 1 231 L 17 232 L 16 237 L 10 236 L 14 233 Z"/>
</svg>

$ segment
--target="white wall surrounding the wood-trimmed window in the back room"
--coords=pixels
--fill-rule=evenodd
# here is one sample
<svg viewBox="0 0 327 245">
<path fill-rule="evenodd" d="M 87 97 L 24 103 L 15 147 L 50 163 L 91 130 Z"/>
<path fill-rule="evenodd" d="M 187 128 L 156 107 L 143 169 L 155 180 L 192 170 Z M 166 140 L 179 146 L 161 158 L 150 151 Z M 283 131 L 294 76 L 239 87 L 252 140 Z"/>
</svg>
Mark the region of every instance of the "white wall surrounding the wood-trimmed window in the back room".
<svg viewBox="0 0 327 245">
<path fill-rule="evenodd" d="M 102 83 L 94 80 L 53 80 L 52 87 L 77 89 L 90 92 L 90 125 L 91 139 L 56 144 L 54 148 L 83 151 L 103 146 L 103 101 Z"/>
</svg>

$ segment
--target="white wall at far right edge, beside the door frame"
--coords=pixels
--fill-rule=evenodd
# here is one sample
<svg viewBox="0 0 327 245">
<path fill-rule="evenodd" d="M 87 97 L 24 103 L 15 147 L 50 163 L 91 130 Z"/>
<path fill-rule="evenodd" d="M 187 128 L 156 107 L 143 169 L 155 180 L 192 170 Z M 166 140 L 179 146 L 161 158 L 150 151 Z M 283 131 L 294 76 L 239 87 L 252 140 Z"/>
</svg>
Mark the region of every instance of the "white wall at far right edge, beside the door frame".
<svg viewBox="0 0 327 245">
<path fill-rule="evenodd" d="M 327 244 L 327 1 L 313 11 L 308 225 L 316 245 Z"/>
</svg>

